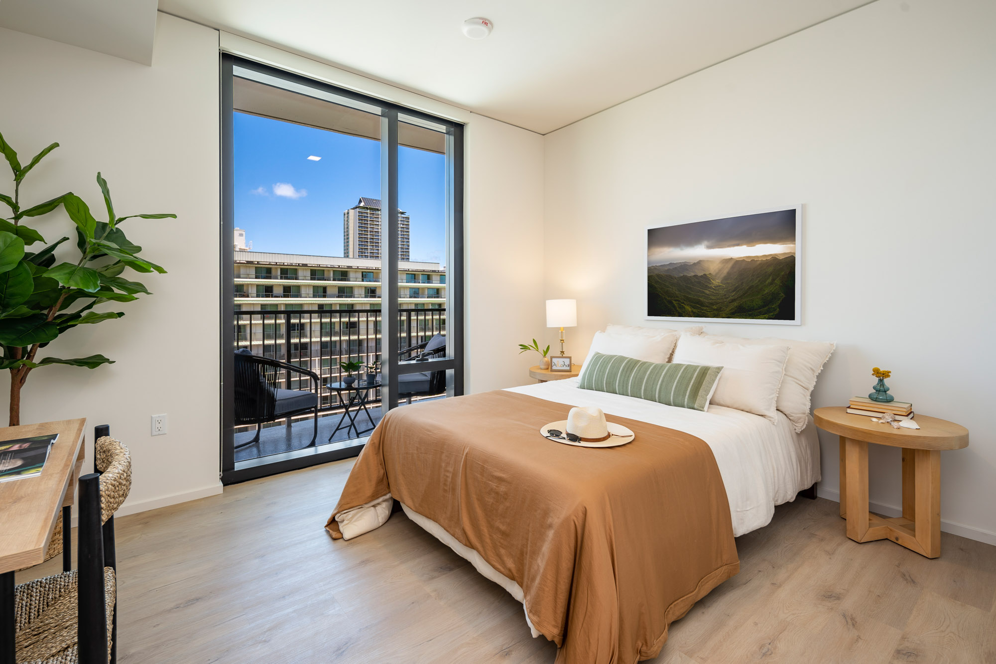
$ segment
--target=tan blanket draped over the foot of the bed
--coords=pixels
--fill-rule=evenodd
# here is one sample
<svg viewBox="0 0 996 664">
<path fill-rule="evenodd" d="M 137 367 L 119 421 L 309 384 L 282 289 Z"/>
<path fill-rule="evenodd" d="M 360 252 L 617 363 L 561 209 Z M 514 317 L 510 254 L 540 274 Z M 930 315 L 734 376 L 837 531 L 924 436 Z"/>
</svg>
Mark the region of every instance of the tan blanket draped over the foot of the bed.
<svg viewBox="0 0 996 664">
<path fill-rule="evenodd" d="M 570 406 L 495 391 L 391 411 L 326 527 L 388 493 L 516 581 L 561 664 L 629 664 L 740 569 L 712 451 L 679 431 L 609 416 L 636 435 L 586 449 L 539 429 Z"/>
</svg>

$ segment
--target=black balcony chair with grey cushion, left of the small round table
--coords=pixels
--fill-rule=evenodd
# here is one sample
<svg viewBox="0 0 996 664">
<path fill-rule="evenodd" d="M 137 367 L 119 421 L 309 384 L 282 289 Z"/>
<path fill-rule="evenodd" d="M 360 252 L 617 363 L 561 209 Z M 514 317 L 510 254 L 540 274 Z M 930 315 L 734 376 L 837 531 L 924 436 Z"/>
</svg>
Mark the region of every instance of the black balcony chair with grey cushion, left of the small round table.
<svg viewBox="0 0 996 664">
<path fill-rule="evenodd" d="M 315 390 L 283 390 L 277 387 L 280 372 L 303 374 L 312 379 Z M 318 438 L 319 377 L 313 371 L 268 357 L 253 355 L 247 349 L 235 351 L 235 425 L 256 425 L 256 437 L 235 449 L 259 443 L 259 433 L 267 422 L 276 422 L 308 411 L 315 411 L 315 434 Z"/>
</svg>

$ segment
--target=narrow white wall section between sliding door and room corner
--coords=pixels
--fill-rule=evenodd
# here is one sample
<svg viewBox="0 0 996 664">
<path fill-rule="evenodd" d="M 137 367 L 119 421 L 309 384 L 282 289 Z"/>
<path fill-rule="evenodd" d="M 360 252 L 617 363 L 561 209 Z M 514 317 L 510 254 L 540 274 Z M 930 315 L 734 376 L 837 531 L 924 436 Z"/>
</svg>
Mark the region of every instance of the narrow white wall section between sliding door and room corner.
<svg viewBox="0 0 996 664">
<path fill-rule="evenodd" d="M 529 383 L 546 331 L 543 137 L 483 116 L 465 133 L 466 391 Z"/>
</svg>

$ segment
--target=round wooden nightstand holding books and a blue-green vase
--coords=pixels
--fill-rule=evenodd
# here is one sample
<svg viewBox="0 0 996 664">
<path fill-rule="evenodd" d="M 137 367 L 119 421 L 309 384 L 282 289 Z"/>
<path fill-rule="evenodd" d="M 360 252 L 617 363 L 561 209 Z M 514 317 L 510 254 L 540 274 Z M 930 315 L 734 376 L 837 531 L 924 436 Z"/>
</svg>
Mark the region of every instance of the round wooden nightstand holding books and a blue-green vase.
<svg viewBox="0 0 996 664">
<path fill-rule="evenodd" d="M 968 447 L 968 430 L 917 415 L 919 429 L 892 429 L 843 406 L 818 408 L 816 426 L 841 437 L 841 516 L 855 541 L 891 539 L 917 553 L 940 555 L 940 453 Z M 902 516 L 869 512 L 869 443 L 902 448 Z"/>
</svg>

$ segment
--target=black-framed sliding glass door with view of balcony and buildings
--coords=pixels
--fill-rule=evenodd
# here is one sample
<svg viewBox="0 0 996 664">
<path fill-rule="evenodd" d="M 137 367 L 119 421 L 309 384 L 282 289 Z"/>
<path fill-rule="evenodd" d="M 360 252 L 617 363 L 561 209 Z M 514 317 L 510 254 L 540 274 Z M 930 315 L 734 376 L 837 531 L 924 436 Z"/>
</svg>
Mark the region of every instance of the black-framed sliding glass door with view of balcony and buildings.
<svg viewBox="0 0 996 664">
<path fill-rule="evenodd" d="M 222 60 L 222 479 L 462 394 L 462 127 Z"/>
</svg>

